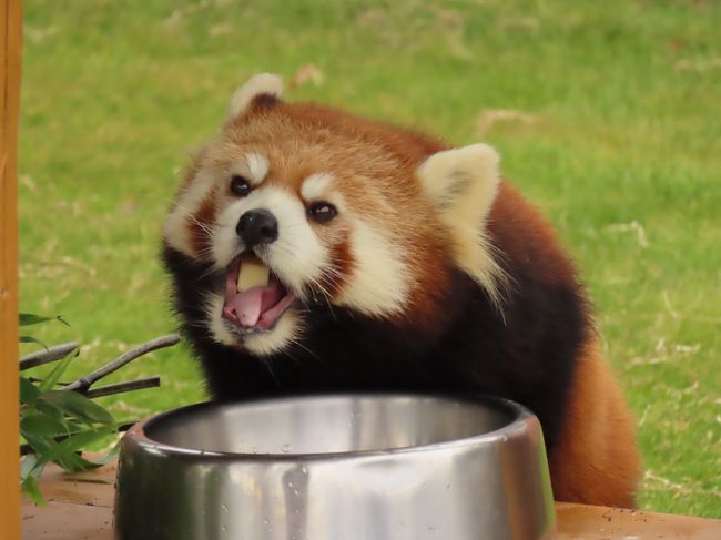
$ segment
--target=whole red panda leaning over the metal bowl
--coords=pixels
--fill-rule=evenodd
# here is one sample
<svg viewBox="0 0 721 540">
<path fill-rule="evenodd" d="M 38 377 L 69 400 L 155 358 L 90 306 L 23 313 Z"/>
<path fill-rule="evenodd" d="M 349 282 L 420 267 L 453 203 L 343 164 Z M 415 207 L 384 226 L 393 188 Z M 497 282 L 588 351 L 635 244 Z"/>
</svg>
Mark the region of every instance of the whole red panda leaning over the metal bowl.
<svg viewBox="0 0 721 540">
<path fill-rule="evenodd" d="M 219 400 L 481 391 L 538 416 L 558 500 L 631 507 L 634 427 L 576 269 L 488 145 L 281 99 L 260 74 L 163 233 Z"/>
</svg>

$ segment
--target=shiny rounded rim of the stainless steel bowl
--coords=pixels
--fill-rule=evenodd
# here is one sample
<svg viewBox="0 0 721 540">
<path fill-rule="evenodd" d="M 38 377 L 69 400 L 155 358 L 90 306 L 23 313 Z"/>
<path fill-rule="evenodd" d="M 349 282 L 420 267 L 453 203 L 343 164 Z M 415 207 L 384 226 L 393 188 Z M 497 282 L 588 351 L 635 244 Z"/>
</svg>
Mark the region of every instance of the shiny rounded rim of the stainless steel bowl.
<svg viewBox="0 0 721 540">
<path fill-rule="evenodd" d="M 460 437 L 439 442 L 429 442 L 418 446 L 408 446 L 399 448 L 353 450 L 353 451 L 334 451 L 334 452 L 273 452 L 273 454 L 252 454 L 252 452 L 231 452 L 216 450 L 199 450 L 194 448 L 184 448 L 167 442 L 161 442 L 151 439 L 145 432 L 145 428 L 162 421 L 164 418 L 180 415 L 197 409 L 214 407 L 232 407 L 243 404 L 253 404 L 262 401 L 284 401 L 297 400 L 305 398 L 413 398 L 413 399 L 445 399 L 454 401 L 467 401 L 477 405 L 490 405 L 500 407 L 511 412 L 512 420 L 491 431 L 485 431 L 469 437 Z M 363 457 L 388 457 L 416 452 L 428 452 L 448 449 L 459 449 L 464 447 L 475 447 L 477 445 L 491 445 L 498 441 L 507 442 L 509 440 L 522 437 L 529 429 L 537 426 L 540 437 L 542 438 L 542 428 L 536 415 L 527 407 L 507 398 L 490 396 L 480 393 L 405 393 L 405 391 L 348 391 L 348 393 L 298 393 L 283 396 L 253 396 L 242 399 L 227 401 L 202 401 L 186 405 L 174 409 L 156 412 L 133 425 L 121 440 L 121 454 L 126 450 L 130 444 L 138 445 L 144 451 L 154 455 L 174 456 L 177 458 L 194 458 L 206 460 L 233 460 L 233 461 L 273 461 L 273 462 L 293 462 L 293 461 L 324 461 L 341 460 L 344 458 L 363 458 Z"/>
</svg>

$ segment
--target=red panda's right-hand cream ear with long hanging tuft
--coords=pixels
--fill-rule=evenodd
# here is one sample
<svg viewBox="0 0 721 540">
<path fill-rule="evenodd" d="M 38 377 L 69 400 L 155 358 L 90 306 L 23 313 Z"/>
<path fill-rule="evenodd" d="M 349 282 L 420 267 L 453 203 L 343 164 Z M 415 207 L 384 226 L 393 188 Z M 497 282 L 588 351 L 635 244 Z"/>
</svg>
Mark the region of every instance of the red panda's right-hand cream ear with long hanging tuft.
<svg viewBox="0 0 721 540">
<path fill-rule="evenodd" d="M 451 235 L 456 264 L 497 303 L 498 285 L 505 275 L 492 257 L 485 228 L 500 183 L 499 162 L 492 147 L 471 144 L 438 152 L 417 171 L 424 191 Z"/>
</svg>

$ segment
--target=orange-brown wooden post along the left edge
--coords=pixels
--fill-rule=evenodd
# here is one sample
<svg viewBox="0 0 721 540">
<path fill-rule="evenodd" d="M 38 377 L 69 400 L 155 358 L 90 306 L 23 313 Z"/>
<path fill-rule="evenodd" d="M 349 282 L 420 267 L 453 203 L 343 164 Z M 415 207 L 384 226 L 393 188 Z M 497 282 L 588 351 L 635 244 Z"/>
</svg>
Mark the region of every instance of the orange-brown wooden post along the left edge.
<svg viewBox="0 0 721 540">
<path fill-rule="evenodd" d="M 20 539 L 18 442 L 18 112 L 20 0 L 0 0 L 0 538 Z"/>
</svg>

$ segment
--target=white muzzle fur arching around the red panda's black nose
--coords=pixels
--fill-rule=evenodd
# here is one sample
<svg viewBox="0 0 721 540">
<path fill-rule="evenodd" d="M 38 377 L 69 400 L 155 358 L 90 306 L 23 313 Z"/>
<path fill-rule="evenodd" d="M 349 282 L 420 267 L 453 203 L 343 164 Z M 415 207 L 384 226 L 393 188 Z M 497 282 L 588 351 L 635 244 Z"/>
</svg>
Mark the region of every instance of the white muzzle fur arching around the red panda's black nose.
<svg viewBox="0 0 721 540">
<path fill-rule="evenodd" d="M 243 246 L 235 226 L 245 212 L 255 208 L 267 210 L 278 223 L 277 240 L 263 246 L 257 255 L 296 293 L 319 279 L 322 267 L 328 258 L 327 249 L 308 225 L 303 203 L 285 190 L 274 186 L 258 187 L 247 197 L 231 203 L 221 213 L 213 228 L 215 266 L 225 268 L 241 253 Z"/>
</svg>

